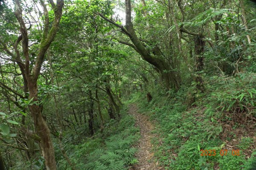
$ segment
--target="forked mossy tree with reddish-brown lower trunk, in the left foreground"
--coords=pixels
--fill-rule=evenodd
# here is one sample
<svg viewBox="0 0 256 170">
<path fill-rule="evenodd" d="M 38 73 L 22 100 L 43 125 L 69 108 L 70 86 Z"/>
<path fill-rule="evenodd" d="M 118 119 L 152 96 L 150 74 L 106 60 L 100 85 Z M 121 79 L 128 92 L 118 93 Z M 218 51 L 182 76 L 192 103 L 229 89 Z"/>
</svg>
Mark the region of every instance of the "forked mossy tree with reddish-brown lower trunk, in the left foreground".
<svg viewBox="0 0 256 170">
<path fill-rule="evenodd" d="M 44 10 L 44 31 L 42 34 L 41 43 L 38 49 L 38 55 L 36 57 L 35 65 L 31 64 L 29 57 L 29 36 L 26 29 L 26 24 L 22 16 L 22 7 L 20 5 L 20 0 L 15 0 L 15 17 L 20 24 L 20 33 L 18 37 L 17 45 L 22 40 L 22 50 L 25 62 L 23 63 L 20 59 L 19 51 L 17 45 L 15 44 L 15 52 L 17 54 L 19 64 L 24 69 L 24 74 L 22 74 L 24 79 L 24 85 L 27 85 L 29 90 L 29 99 L 32 99 L 34 104 L 29 105 L 29 111 L 34 119 L 35 132 L 41 138 L 40 146 L 45 159 L 45 165 L 47 170 L 56 170 L 56 161 L 54 148 L 50 136 L 50 130 L 42 116 L 42 107 L 38 103 L 38 87 L 37 81 L 41 71 L 41 66 L 44 62 L 44 56 L 51 45 L 54 37 L 57 33 L 58 26 L 62 16 L 62 8 L 64 6 L 64 0 L 57 0 L 56 4 L 53 1 L 49 1 L 52 9 L 54 11 L 54 20 L 52 22 L 51 28 L 49 25 L 49 14 L 47 6 L 44 1 L 40 1 Z M 22 70 L 22 69 L 21 69 Z"/>
</svg>

